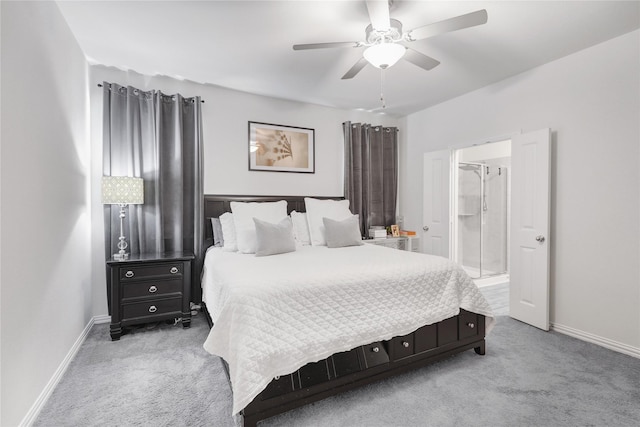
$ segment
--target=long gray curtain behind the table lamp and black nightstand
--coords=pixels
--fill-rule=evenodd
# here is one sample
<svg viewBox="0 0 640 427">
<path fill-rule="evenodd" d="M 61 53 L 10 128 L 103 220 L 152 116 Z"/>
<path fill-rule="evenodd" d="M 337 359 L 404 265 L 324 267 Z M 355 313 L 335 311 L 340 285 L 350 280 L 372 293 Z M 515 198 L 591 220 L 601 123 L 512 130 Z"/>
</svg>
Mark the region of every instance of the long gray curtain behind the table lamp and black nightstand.
<svg viewBox="0 0 640 427">
<path fill-rule="evenodd" d="M 144 179 L 144 204 L 127 208 L 128 252 L 189 251 L 200 256 L 200 97 L 144 92 L 107 82 L 103 95 L 103 174 Z M 120 233 L 119 206 L 105 205 L 104 213 L 105 253 L 110 257 Z M 198 262 L 202 260 L 196 259 Z M 197 301 L 199 294 L 192 295 Z"/>
</svg>

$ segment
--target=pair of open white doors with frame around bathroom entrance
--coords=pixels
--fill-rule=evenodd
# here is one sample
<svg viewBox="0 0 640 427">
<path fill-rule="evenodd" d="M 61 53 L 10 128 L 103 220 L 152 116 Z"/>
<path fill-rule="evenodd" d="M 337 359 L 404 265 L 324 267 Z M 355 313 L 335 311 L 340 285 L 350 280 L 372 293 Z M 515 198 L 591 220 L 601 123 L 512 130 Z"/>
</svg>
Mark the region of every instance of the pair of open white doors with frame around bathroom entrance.
<svg viewBox="0 0 640 427">
<path fill-rule="evenodd" d="M 548 331 L 551 129 L 515 134 L 501 142 L 424 153 L 422 251 L 456 259 L 458 163 L 499 162 L 496 165 L 505 166 L 509 178 L 507 274 L 476 279 L 476 284 L 506 278 L 508 315 Z M 507 151 L 502 154 L 480 155 L 503 146 Z"/>
</svg>

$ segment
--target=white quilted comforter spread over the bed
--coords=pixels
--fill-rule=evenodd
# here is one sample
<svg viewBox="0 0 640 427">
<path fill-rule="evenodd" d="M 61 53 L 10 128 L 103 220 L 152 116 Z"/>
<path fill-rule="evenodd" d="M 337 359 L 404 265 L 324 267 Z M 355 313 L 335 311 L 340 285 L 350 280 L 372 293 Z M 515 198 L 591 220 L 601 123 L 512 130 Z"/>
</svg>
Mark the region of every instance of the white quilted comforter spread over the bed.
<svg viewBox="0 0 640 427">
<path fill-rule="evenodd" d="M 204 300 L 214 326 L 204 343 L 228 363 L 233 413 L 275 377 L 359 345 L 455 316 L 487 316 L 487 301 L 448 259 L 376 245 L 310 247 L 256 257 L 211 248 Z"/>
</svg>

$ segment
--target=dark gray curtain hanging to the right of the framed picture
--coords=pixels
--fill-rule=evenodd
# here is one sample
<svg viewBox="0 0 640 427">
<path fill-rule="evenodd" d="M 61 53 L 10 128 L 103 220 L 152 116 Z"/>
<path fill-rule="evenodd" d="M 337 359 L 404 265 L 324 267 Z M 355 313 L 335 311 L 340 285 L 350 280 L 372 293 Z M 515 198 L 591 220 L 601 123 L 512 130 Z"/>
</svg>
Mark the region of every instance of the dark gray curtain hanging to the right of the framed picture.
<svg viewBox="0 0 640 427">
<path fill-rule="evenodd" d="M 342 124 L 345 148 L 344 195 L 360 216 L 360 231 L 396 223 L 398 128 Z"/>
</svg>

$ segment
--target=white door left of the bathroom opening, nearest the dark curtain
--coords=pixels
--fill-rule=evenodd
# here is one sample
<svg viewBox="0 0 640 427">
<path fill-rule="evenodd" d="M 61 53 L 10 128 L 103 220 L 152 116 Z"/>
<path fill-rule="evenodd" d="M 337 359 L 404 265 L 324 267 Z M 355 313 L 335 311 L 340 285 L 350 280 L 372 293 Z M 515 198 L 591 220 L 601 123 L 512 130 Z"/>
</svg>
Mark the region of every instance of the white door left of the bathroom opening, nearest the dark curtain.
<svg viewBox="0 0 640 427">
<path fill-rule="evenodd" d="M 425 153 L 422 251 L 449 258 L 451 151 Z"/>
</svg>

